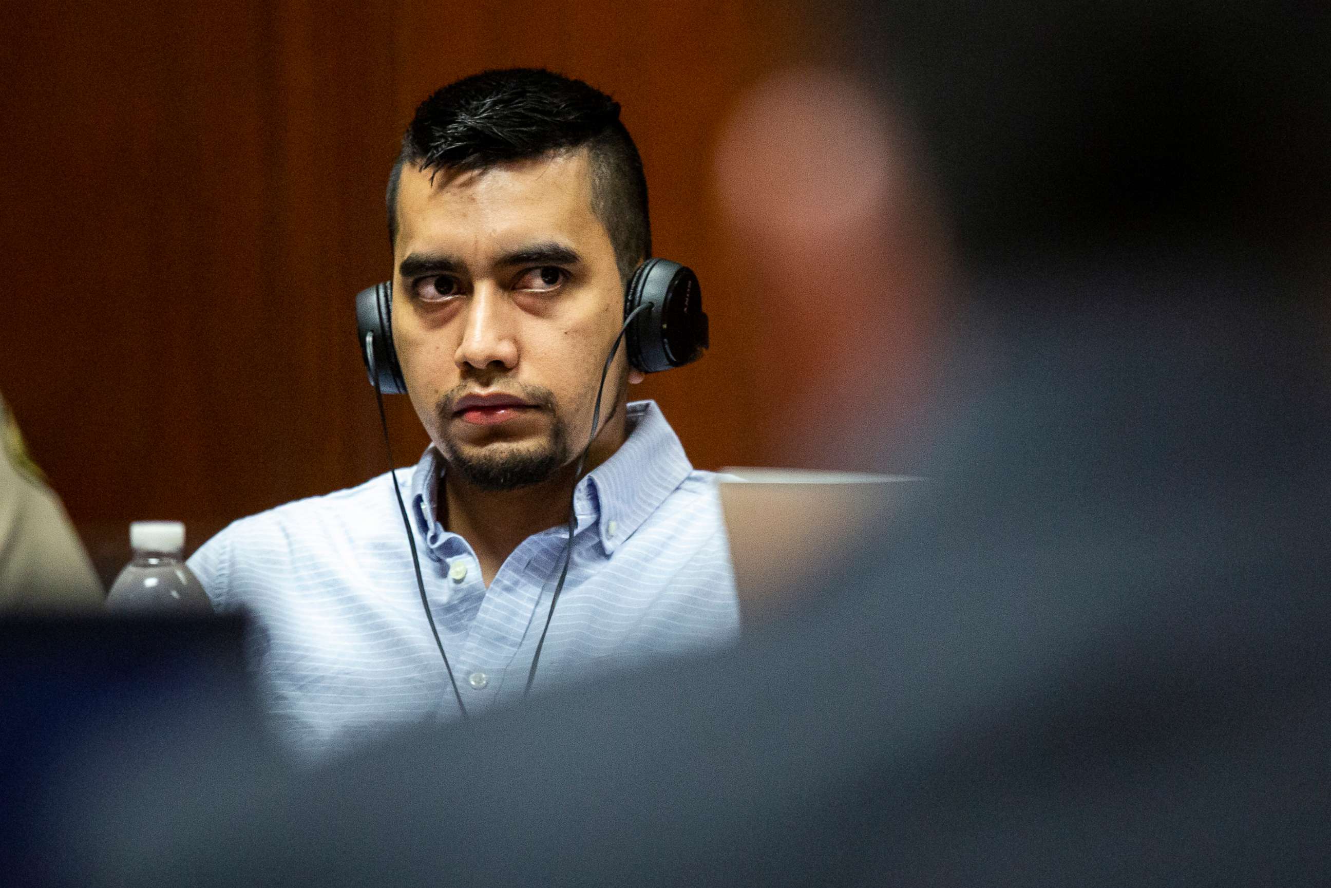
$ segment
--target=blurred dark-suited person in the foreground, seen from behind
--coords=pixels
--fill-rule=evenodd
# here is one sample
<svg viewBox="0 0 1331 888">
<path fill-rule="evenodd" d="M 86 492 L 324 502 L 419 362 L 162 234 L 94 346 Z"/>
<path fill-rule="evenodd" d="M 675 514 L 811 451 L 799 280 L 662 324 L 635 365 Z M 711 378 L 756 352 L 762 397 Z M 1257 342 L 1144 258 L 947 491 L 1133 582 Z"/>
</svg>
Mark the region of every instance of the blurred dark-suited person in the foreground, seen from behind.
<svg viewBox="0 0 1331 888">
<path fill-rule="evenodd" d="M 69 859 L 112 884 L 1326 884 L 1331 40 L 1310 9 L 856 19 L 880 88 L 760 89 L 720 188 L 773 300 L 857 320 L 832 359 L 896 320 L 874 312 L 892 260 L 864 249 L 884 216 L 812 237 L 797 198 L 862 197 L 893 161 L 933 184 L 954 266 L 918 316 L 941 334 L 917 366 L 945 367 L 916 405 L 932 441 L 878 417 L 878 459 L 928 471 L 929 501 L 733 651 L 301 785 L 197 785 L 208 817 Z M 837 393 L 894 382 L 852 358 Z M 161 800 L 134 792 L 69 831 Z"/>
</svg>

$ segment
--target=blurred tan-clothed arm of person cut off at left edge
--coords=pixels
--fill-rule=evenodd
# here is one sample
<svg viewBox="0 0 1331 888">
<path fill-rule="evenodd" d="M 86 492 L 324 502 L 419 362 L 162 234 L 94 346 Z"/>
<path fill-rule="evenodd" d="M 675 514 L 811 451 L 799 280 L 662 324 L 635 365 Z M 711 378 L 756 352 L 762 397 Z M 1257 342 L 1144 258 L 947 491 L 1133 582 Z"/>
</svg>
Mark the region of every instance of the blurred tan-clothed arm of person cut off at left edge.
<svg viewBox="0 0 1331 888">
<path fill-rule="evenodd" d="M 0 614 L 97 610 L 101 580 L 0 398 Z"/>
</svg>

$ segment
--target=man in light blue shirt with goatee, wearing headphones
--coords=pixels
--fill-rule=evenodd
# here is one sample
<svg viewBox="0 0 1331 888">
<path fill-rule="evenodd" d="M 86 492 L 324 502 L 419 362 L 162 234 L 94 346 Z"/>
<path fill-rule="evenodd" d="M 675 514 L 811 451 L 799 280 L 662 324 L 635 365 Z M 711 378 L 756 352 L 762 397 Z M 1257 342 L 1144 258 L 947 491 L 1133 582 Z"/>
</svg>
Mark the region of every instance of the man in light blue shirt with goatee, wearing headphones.
<svg viewBox="0 0 1331 888">
<path fill-rule="evenodd" d="M 624 286 L 651 254 L 647 184 L 619 105 L 544 71 L 492 71 L 417 109 L 389 190 L 393 339 L 431 446 L 390 475 L 234 523 L 190 559 L 246 608 L 272 708 L 310 752 L 365 728 L 524 694 L 567 542 L 536 687 L 729 639 L 719 505 L 620 347 Z"/>
</svg>

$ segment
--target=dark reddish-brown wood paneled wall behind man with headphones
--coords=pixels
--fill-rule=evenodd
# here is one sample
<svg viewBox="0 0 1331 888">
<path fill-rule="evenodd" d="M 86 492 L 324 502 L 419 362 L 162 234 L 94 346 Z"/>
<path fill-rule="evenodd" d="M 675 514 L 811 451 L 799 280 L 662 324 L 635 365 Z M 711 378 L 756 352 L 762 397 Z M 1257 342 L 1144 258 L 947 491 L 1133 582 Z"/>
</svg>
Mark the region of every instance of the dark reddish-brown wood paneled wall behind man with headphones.
<svg viewBox="0 0 1331 888">
<path fill-rule="evenodd" d="M 190 543 L 385 466 L 351 297 L 389 272 L 383 185 L 434 88 L 543 65 L 612 93 L 656 252 L 715 347 L 650 379 L 696 465 L 763 465 L 780 371 L 708 177 L 744 87 L 805 52 L 793 7 L 699 0 L 21 1 L 0 53 L 0 390 L 113 564 L 125 523 Z M 399 463 L 426 438 L 390 405 Z"/>
</svg>

